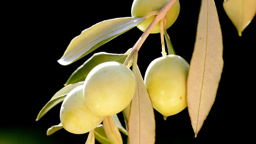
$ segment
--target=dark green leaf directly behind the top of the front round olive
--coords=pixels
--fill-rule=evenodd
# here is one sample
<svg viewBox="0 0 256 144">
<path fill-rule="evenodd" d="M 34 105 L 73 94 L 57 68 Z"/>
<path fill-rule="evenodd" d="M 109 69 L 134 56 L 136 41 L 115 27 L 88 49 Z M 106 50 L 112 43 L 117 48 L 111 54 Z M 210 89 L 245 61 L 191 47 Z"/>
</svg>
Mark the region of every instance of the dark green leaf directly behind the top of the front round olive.
<svg viewBox="0 0 256 144">
<path fill-rule="evenodd" d="M 71 76 L 68 78 L 64 86 L 84 81 L 88 73 L 92 70 L 92 68 L 96 67 L 97 65 L 103 62 L 116 61 L 124 63 L 125 59 L 130 53 L 130 50 L 131 49 L 129 49 L 124 54 L 114 54 L 107 52 L 98 52 L 93 54 L 93 56 L 90 59 L 86 60 L 83 65 L 81 65 L 71 74 Z"/>
</svg>

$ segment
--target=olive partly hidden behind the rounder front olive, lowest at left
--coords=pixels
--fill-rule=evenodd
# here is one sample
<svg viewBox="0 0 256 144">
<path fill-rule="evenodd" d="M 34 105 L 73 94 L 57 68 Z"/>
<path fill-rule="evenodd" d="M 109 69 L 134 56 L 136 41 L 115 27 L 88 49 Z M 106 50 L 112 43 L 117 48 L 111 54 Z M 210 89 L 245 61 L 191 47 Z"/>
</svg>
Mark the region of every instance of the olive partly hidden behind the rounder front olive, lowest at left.
<svg viewBox="0 0 256 144">
<path fill-rule="evenodd" d="M 97 116 L 86 106 L 83 85 L 74 88 L 63 100 L 60 108 L 60 122 L 65 130 L 74 134 L 92 131 L 104 119 Z"/>
</svg>

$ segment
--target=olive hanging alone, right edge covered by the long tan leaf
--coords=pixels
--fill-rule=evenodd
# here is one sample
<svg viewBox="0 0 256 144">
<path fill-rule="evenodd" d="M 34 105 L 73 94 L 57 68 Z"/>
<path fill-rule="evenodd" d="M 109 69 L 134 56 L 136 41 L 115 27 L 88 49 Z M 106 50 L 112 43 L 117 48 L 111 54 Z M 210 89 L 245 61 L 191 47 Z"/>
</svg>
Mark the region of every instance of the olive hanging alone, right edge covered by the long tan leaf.
<svg viewBox="0 0 256 144">
<path fill-rule="evenodd" d="M 175 115 L 187 107 L 188 69 L 188 62 L 173 54 L 149 64 L 145 85 L 153 107 L 162 115 Z"/>
</svg>

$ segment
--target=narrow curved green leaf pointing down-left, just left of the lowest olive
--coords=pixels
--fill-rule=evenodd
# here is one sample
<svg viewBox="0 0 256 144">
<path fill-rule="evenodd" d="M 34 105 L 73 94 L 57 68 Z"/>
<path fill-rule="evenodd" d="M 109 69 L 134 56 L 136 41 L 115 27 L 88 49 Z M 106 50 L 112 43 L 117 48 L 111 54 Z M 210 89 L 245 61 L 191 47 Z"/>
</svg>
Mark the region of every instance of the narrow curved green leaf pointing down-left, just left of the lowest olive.
<svg viewBox="0 0 256 144">
<path fill-rule="evenodd" d="M 36 121 L 38 121 L 40 118 L 42 118 L 54 106 L 56 106 L 57 104 L 62 102 L 66 96 L 67 96 L 67 94 L 64 94 L 64 95 L 56 97 L 56 98 L 50 100 L 49 102 L 47 102 L 46 105 L 44 106 L 44 108 L 42 108 L 41 111 L 39 112 L 39 114 L 37 115 Z"/>
</svg>

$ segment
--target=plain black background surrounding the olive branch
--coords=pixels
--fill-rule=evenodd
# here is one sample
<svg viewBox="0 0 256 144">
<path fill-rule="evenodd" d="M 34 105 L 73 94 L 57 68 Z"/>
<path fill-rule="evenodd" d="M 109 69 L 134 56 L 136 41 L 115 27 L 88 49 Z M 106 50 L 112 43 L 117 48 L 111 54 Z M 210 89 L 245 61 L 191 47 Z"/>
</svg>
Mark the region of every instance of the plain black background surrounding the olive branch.
<svg viewBox="0 0 256 144">
<path fill-rule="evenodd" d="M 81 31 L 108 19 L 130 17 L 132 0 L 67 1 L 60 3 L 15 3 L 18 8 L 10 20 L 10 32 L 2 52 L 4 88 L 0 99 L 0 144 L 84 144 L 86 134 L 64 129 L 46 136 L 52 125 L 60 123 L 60 105 L 38 122 L 38 112 L 63 87 L 76 68 L 96 52 L 124 53 L 142 31 L 128 32 L 102 45 L 75 63 L 62 66 L 57 60 L 70 41 Z M 196 39 L 201 0 L 180 0 L 180 14 L 167 29 L 176 54 L 190 62 Z M 156 144 L 246 142 L 254 132 L 256 20 L 238 36 L 235 26 L 223 10 L 223 0 L 215 0 L 223 36 L 224 68 L 217 96 L 197 138 L 185 108 L 166 121 L 155 110 Z M 10 11 L 10 10 L 9 10 Z M 6 28 L 7 29 L 7 28 Z M 150 34 L 141 46 L 138 66 L 142 77 L 149 63 L 161 57 L 160 34 Z M 166 50 L 167 51 L 167 50 Z M 122 114 L 118 114 L 123 123 Z M 123 123 L 124 124 L 124 123 Z"/>
</svg>

